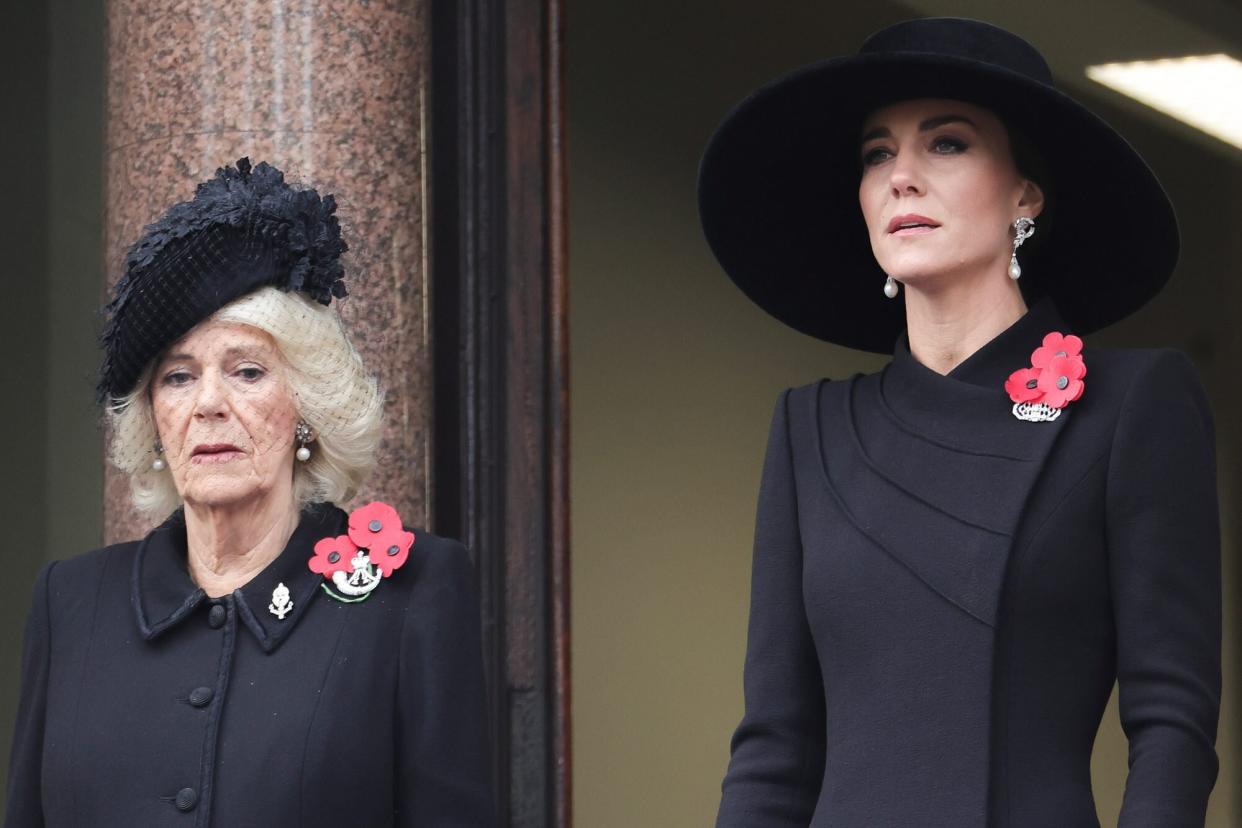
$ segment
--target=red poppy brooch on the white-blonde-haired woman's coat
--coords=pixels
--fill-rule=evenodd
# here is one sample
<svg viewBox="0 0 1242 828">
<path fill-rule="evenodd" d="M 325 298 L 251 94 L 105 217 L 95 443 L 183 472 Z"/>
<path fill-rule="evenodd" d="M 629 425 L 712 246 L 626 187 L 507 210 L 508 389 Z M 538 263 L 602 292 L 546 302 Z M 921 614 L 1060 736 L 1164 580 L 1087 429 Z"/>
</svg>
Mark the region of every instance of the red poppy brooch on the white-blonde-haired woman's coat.
<svg viewBox="0 0 1242 828">
<path fill-rule="evenodd" d="M 405 565 L 414 546 L 396 509 L 386 503 L 368 503 L 349 513 L 349 533 L 324 538 L 314 545 L 307 562 L 330 583 L 323 591 L 337 601 L 365 601 L 383 578 Z"/>
</svg>

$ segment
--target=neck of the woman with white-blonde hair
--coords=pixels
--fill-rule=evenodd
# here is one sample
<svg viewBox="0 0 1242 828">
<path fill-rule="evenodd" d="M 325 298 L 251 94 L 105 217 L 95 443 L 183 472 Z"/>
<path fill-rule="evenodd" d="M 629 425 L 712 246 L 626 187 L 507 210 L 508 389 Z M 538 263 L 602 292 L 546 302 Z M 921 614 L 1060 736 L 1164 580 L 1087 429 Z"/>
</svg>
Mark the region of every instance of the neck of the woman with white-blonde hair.
<svg viewBox="0 0 1242 828">
<path fill-rule="evenodd" d="M 190 577 L 211 597 L 245 586 L 284 549 L 298 525 L 291 493 L 242 504 L 185 504 Z"/>
</svg>

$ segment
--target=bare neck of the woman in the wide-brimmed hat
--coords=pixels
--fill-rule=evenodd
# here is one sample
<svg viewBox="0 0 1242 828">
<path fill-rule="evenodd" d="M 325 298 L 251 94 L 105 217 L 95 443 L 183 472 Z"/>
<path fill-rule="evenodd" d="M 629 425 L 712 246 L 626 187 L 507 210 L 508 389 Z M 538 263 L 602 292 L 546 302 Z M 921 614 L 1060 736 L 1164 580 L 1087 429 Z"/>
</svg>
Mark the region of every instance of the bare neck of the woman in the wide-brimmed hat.
<svg viewBox="0 0 1242 828">
<path fill-rule="evenodd" d="M 907 287 L 910 355 L 936 374 L 948 374 L 1025 313 L 1017 284 L 995 273 L 936 290 Z"/>
</svg>

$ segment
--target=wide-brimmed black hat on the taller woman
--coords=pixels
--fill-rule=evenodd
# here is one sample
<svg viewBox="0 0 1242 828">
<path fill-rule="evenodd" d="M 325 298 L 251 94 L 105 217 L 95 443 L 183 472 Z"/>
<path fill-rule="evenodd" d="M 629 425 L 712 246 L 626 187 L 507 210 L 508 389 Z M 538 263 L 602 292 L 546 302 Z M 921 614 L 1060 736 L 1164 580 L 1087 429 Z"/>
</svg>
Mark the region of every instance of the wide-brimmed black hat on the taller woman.
<svg viewBox="0 0 1242 828">
<path fill-rule="evenodd" d="M 905 326 L 889 300 L 858 205 L 869 112 L 950 98 L 995 113 L 1042 158 L 1051 232 L 1020 286 L 1079 334 L 1138 310 L 1172 274 L 1177 221 L 1139 154 L 1052 84 L 1021 37 L 933 17 L 872 35 L 851 57 L 815 63 L 751 94 L 715 130 L 699 168 L 703 231 L 729 277 L 761 308 L 831 343 L 891 353 Z M 1032 240 L 1035 241 L 1035 240 Z"/>
</svg>

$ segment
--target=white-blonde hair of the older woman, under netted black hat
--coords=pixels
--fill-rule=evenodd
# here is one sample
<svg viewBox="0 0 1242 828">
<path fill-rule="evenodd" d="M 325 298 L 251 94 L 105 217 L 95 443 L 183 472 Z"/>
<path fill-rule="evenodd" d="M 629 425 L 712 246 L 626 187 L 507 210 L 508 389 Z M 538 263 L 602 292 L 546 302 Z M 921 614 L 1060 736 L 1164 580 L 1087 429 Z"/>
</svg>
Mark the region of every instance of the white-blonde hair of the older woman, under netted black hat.
<svg viewBox="0 0 1242 828">
<path fill-rule="evenodd" d="M 301 293 L 260 288 L 210 317 L 250 325 L 268 334 L 284 358 L 286 380 L 298 416 L 313 430 L 310 459 L 293 464 L 293 498 L 309 503 L 344 503 L 375 467 L 384 396 L 349 341 L 335 308 Z M 150 382 L 156 356 L 138 385 L 106 407 L 112 426 L 109 456 L 129 474 L 134 506 L 163 519 L 181 505 L 168 470 L 152 468 L 155 418 Z"/>
</svg>

